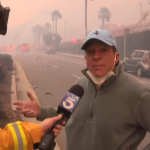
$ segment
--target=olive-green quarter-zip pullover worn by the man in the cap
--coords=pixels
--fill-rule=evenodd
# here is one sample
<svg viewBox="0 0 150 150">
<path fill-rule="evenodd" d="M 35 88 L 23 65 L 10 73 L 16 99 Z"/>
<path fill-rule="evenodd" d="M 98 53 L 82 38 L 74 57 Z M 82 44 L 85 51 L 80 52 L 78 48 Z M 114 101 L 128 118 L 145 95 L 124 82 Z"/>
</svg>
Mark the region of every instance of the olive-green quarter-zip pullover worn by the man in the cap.
<svg viewBox="0 0 150 150">
<path fill-rule="evenodd" d="M 150 90 L 122 70 L 121 64 L 97 92 L 85 75 L 77 84 L 84 96 L 66 125 L 67 150 L 136 150 L 150 131 Z M 39 119 L 57 115 L 42 109 Z"/>
</svg>

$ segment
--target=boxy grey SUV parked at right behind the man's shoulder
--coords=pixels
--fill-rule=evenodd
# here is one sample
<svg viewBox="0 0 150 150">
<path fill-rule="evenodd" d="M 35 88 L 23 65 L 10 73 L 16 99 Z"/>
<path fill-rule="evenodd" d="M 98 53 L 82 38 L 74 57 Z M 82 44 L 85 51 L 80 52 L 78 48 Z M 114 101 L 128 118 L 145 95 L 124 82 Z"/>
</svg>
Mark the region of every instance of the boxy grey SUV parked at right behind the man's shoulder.
<svg viewBox="0 0 150 150">
<path fill-rule="evenodd" d="M 139 77 L 145 76 L 150 73 L 150 51 L 134 50 L 122 64 L 124 71 L 134 71 Z"/>
</svg>

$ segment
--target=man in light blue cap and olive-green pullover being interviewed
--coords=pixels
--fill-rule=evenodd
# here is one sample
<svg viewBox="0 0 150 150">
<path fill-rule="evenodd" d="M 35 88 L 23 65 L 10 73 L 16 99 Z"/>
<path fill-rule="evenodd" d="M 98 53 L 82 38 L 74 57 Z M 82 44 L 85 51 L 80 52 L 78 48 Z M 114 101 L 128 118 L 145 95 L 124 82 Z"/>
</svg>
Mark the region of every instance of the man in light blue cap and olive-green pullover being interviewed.
<svg viewBox="0 0 150 150">
<path fill-rule="evenodd" d="M 89 34 L 82 50 L 87 68 L 77 84 L 84 95 L 66 125 L 67 150 L 136 150 L 150 131 L 150 89 L 123 71 L 108 31 Z M 37 103 L 23 105 L 38 120 L 57 115 Z"/>
</svg>

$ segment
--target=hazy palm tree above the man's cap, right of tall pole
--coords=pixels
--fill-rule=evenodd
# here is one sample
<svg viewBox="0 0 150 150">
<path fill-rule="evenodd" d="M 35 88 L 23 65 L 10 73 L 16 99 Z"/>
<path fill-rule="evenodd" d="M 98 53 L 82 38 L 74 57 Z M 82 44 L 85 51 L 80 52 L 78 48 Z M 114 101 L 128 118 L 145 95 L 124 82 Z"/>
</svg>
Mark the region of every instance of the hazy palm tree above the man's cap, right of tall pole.
<svg viewBox="0 0 150 150">
<path fill-rule="evenodd" d="M 102 28 L 104 28 L 105 21 L 109 22 L 111 18 L 111 13 L 107 7 L 102 7 L 98 11 L 98 19 L 102 20 Z"/>
</svg>

